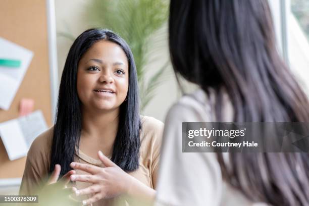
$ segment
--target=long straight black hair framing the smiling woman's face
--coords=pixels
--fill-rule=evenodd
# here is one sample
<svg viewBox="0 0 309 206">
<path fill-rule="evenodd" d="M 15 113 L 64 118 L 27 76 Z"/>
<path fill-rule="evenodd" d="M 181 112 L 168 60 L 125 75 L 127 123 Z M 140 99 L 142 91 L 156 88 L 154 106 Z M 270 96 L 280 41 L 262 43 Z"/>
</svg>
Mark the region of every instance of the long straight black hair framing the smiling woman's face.
<svg viewBox="0 0 309 206">
<path fill-rule="evenodd" d="M 81 134 L 81 101 L 77 94 L 77 68 L 83 54 L 97 41 L 106 40 L 118 44 L 127 56 L 129 64 L 129 89 L 127 100 L 120 106 L 119 126 L 113 147 L 112 161 L 124 171 L 134 171 L 139 164 L 139 97 L 137 73 L 133 54 L 128 44 L 110 30 L 89 29 L 80 34 L 70 48 L 61 77 L 54 138 L 49 172 L 56 164 L 62 167 L 61 176 L 72 168 L 75 146 L 79 148 Z"/>
</svg>

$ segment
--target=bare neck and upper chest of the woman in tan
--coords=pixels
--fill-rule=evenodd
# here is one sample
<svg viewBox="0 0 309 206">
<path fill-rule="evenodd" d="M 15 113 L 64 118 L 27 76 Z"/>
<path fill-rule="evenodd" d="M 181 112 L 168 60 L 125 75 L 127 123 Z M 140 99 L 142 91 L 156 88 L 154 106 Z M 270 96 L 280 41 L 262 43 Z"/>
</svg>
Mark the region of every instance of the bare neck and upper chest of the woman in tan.
<svg viewBox="0 0 309 206">
<path fill-rule="evenodd" d="M 97 151 L 112 155 L 118 131 L 119 109 L 105 113 L 89 112 L 82 109 L 82 130 L 80 149 L 86 155 L 97 159 Z"/>
</svg>

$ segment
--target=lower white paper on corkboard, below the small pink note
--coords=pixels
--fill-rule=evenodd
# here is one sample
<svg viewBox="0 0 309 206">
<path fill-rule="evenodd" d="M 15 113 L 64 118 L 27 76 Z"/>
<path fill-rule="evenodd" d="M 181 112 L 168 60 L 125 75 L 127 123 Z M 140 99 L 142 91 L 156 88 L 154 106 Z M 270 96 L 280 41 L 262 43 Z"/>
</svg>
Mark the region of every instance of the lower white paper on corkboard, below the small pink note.
<svg viewBox="0 0 309 206">
<path fill-rule="evenodd" d="M 40 110 L 0 123 L 0 137 L 9 159 L 12 161 L 26 156 L 33 140 L 46 129 L 47 125 Z"/>
</svg>

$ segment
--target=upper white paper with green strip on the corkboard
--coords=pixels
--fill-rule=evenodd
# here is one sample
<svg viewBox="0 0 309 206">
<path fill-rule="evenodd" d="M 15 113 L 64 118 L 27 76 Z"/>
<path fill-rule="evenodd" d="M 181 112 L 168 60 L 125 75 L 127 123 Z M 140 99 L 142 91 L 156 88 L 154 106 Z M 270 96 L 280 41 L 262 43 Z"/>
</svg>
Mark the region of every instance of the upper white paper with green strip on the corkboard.
<svg viewBox="0 0 309 206">
<path fill-rule="evenodd" d="M 9 110 L 30 65 L 33 52 L 0 37 L 0 108 Z M 18 68 L 12 68 L 18 66 Z"/>
</svg>

